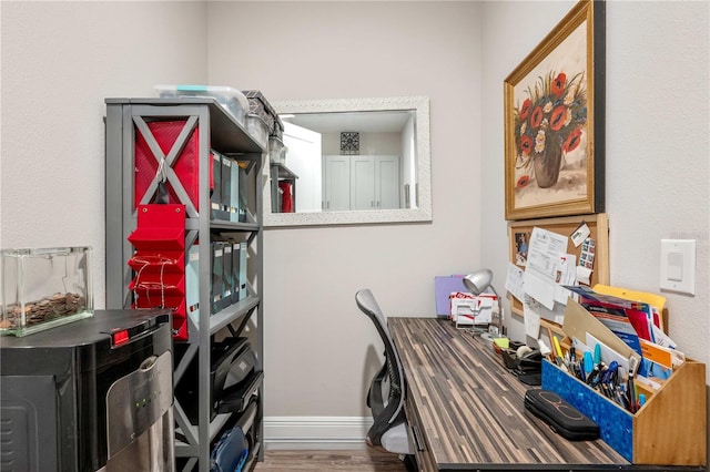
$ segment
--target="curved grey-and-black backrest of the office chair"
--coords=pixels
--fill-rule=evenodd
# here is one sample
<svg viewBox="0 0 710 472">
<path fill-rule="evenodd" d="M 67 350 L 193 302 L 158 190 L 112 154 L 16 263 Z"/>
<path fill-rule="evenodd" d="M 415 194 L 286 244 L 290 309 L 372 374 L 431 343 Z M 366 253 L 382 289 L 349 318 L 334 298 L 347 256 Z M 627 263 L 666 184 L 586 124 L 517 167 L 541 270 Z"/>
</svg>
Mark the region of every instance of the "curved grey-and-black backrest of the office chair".
<svg viewBox="0 0 710 472">
<path fill-rule="evenodd" d="M 389 374 L 389 398 L 382 417 L 388 424 L 400 422 L 404 419 L 405 378 L 399 355 L 387 329 L 385 317 L 379 309 L 369 289 L 359 290 L 355 294 L 357 307 L 373 321 L 377 332 L 385 345 L 385 362 Z M 372 406 L 371 406 L 372 408 Z M 375 419 L 377 421 L 377 419 Z"/>
</svg>

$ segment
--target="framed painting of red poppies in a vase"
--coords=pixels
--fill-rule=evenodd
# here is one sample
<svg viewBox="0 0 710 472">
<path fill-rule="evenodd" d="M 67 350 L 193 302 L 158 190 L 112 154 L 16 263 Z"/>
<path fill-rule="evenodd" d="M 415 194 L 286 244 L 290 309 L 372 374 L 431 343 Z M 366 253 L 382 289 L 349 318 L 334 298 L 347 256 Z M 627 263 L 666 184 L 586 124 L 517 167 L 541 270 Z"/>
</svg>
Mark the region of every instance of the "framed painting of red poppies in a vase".
<svg viewBox="0 0 710 472">
<path fill-rule="evenodd" d="M 604 212 L 605 30 L 581 0 L 506 78 L 506 219 Z"/>
</svg>

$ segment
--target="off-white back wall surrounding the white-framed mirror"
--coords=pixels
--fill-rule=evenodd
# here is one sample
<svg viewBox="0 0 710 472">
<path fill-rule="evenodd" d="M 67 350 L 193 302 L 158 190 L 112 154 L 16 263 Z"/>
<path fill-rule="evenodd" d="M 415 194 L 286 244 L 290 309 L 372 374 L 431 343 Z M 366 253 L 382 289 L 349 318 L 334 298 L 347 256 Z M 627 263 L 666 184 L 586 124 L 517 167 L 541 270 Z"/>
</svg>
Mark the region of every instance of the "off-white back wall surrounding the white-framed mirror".
<svg viewBox="0 0 710 472">
<path fill-rule="evenodd" d="M 430 316 L 434 276 L 479 265 L 476 2 L 217 2 L 210 81 L 270 101 L 428 95 L 434 222 L 265 234 L 265 414 L 369 414 L 382 343 L 355 306 Z M 235 21 L 235 19 L 242 19 Z M 264 31 L 267 27 L 267 31 Z"/>
</svg>

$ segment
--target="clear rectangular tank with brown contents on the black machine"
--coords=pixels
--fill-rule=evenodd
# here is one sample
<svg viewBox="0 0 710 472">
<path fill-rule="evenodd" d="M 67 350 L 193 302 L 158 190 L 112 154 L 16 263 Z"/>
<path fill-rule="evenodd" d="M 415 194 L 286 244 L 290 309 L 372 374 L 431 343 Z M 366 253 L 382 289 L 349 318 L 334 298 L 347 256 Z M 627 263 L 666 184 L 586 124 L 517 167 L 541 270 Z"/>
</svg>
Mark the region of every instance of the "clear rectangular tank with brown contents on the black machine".
<svg viewBox="0 0 710 472">
<path fill-rule="evenodd" d="M 4 249 L 0 335 L 26 336 L 93 315 L 90 247 Z"/>
</svg>

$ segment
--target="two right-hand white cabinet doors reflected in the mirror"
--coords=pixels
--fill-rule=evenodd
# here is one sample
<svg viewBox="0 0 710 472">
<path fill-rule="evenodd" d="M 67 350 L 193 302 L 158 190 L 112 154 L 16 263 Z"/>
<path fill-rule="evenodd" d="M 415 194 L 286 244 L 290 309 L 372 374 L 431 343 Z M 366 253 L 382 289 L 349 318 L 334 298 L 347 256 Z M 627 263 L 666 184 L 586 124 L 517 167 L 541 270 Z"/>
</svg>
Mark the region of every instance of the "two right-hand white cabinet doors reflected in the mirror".
<svg viewBox="0 0 710 472">
<path fill-rule="evenodd" d="M 351 209 L 399 208 L 397 156 L 353 156 Z"/>
</svg>

